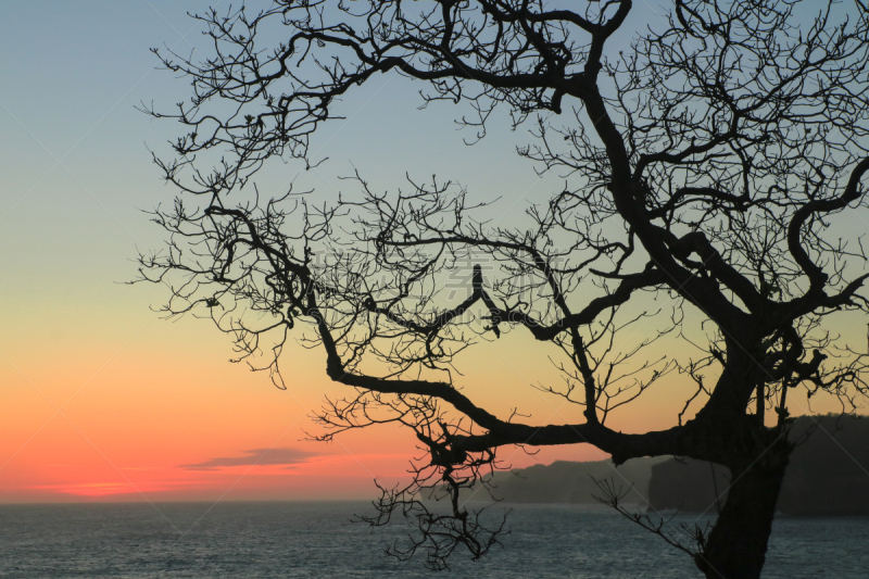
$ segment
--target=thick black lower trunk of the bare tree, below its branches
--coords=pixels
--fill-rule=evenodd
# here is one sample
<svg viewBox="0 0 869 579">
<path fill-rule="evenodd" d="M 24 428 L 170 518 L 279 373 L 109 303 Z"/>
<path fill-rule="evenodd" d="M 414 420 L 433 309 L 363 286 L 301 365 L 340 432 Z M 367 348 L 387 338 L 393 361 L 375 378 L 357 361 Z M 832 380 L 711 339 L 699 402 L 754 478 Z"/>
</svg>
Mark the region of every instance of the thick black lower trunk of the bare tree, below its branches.
<svg viewBox="0 0 869 579">
<path fill-rule="evenodd" d="M 752 461 L 729 465 L 733 478 L 727 502 L 703 552 L 695 556 L 697 567 L 707 578 L 760 577 L 791 450 L 786 440 L 779 439 L 753 453 Z"/>
</svg>

